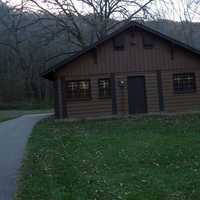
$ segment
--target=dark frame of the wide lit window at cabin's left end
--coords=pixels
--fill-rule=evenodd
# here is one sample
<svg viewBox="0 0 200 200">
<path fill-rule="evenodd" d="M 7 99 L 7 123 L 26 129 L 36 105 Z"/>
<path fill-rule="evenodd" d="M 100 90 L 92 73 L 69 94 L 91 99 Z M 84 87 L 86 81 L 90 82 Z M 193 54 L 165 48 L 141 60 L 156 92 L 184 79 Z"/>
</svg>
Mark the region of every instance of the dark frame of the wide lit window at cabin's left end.
<svg viewBox="0 0 200 200">
<path fill-rule="evenodd" d="M 88 82 L 89 83 L 89 92 L 88 92 L 88 96 L 87 97 L 81 97 L 80 96 L 80 82 Z M 68 84 L 70 82 L 75 82 L 75 83 L 78 83 L 78 92 L 79 92 L 79 95 L 77 97 L 69 97 L 69 93 L 68 93 Z M 66 81 L 66 99 L 67 101 L 82 101 L 82 100 L 91 100 L 92 96 L 91 96 L 91 81 L 90 79 L 81 79 L 81 80 L 68 80 Z"/>
</svg>

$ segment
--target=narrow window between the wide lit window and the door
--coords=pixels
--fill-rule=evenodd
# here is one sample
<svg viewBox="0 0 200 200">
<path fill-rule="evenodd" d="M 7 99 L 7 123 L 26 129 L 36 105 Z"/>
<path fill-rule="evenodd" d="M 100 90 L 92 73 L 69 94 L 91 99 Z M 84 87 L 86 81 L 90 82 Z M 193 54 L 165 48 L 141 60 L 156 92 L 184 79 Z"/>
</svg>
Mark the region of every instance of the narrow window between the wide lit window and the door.
<svg viewBox="0 0 200 200">
<path fill-rule="evenodd" d="M 99 79 L 99 97 L 111 97 L 111 79 Z"/>
</svg>

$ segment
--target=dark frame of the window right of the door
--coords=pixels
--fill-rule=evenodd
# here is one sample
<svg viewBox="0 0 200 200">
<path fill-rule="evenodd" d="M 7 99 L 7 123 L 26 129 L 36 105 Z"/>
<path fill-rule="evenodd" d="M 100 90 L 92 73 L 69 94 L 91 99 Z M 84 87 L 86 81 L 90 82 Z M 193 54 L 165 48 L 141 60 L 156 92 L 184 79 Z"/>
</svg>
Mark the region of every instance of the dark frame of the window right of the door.
<svg viewBox="0 0 200 200">
<path fill-rule="evenodd" d="M 182 88 L 178 88 L 175 83 L 175 78 L 177 76 L 190 76 L 192 77 L 192 88 L 187 88 L 186 86 L 182 86 Z M 174 73 L 173 74 L 173 91 L 175 94 L 187 94 L 187 93 L 195 93 L 197 89 L 196 85 L 196 74 L 195 72 L 183 72 L 183 73 Z"/>
</svg>

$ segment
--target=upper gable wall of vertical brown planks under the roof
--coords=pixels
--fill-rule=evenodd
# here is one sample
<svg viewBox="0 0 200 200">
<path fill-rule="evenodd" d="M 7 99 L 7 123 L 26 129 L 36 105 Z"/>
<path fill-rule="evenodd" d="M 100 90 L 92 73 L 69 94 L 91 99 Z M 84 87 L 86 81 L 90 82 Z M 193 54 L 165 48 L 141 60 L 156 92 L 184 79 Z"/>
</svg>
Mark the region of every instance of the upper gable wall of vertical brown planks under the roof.
<svg viewBox="0 0 200 200">
<path fill-rule="evenodd" d="M 144 33 L 143 33 L 144 34 Z M 98 64 L 94 63 L 93 53 L 89 52 L 65 68 L 57 76 L 79 77 L 107 73 L 130 73 L 156 70 L 198 69 L 200 58 L 182 48 L 174 47 L 174 59 L 171 59 L 171 45 L 163 39 L 154 38 L 155 47 L 144 49 L 142 33 L 136 32 L 132 38 L 130 33 L 124 33 L 125 49 L 113 49 L 112 40 L 97 48 Z"/>
</svg>

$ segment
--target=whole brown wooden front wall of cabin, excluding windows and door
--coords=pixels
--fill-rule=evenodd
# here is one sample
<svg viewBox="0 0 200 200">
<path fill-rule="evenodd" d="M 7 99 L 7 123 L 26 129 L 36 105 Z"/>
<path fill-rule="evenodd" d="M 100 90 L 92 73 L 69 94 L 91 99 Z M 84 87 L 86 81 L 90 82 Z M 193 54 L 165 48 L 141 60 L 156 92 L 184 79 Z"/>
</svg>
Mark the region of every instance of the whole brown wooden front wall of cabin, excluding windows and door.
<svg viewBox="0 0 200 200">
<path fill-rule="evenodd" d="M 110 77 L 115 73 L 117 109 L 119 114 L 128 114 L 127 87 L 119 87 L 119 81 L 127 82 L 128 76 L 144 75 L 146 81 L 146 97 L 148 112 L 159 112 L 159 93 L 157 71 L 161 71 L 163 83 L 164 108 L 166 112 L 179 112 L 195 109 L 200 106 L 200 58 L 199 56 L 173 47 L 169 42 L 154 37 L 155 47 L 144 49 L 142 35 L 148 34 L 140 30 L 123 33 L 125 49 L 116 51 L 112 40 L 97 48 L 97 64 L 94 52 L 79 57 L 67 64 L 57 74 L 56 79 L 91 80 L 91 99 L 87 101 L 67 101 L 65 99 L 68 117 L 94 117 L 112 114 L 112 99 L 98 98 L 98 79 Z M 196 72 L 197 92 L 190 94 L 174 94 L 173 73 Z"/>
</svg>

